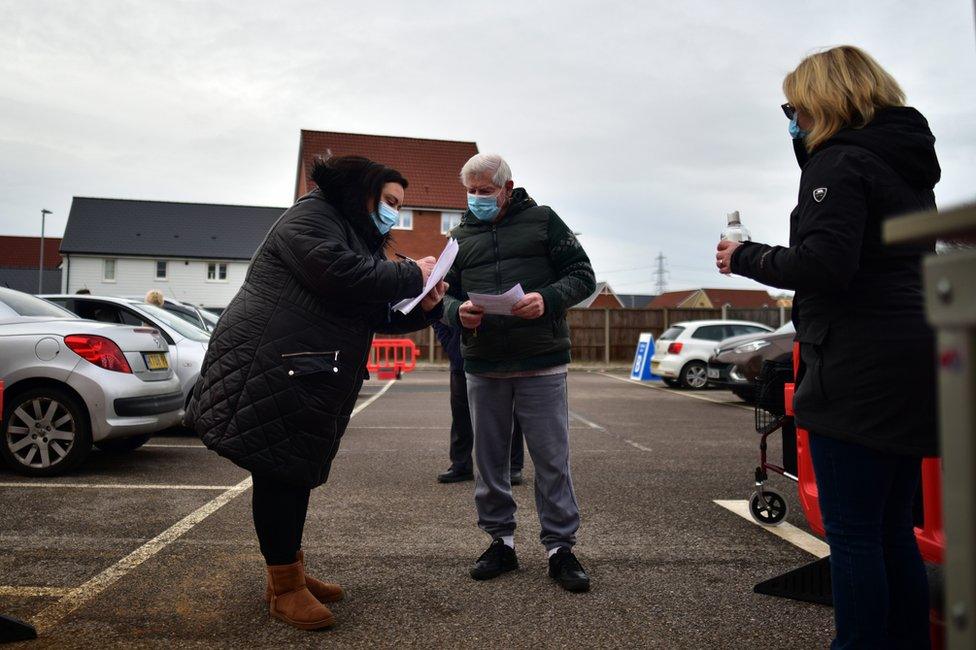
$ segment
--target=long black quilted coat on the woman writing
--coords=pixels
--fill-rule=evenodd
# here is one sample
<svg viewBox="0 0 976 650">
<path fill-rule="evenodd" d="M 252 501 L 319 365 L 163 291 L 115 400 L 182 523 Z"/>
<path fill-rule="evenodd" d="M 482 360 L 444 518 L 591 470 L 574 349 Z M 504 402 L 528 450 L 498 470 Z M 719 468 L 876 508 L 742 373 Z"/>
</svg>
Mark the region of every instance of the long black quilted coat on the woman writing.
<svg viewBox="0 0 976 650">
<path fill-rule="evenodd" d="M 419 267 L 386 259 L 367 215 L 349 218 L 314 190 L 272 226 L 221 315 L 186 422 L 251 472 L 326 481 L 377 330 L 426 327 L 390 303 L 416 296 Z"/>
</svg>

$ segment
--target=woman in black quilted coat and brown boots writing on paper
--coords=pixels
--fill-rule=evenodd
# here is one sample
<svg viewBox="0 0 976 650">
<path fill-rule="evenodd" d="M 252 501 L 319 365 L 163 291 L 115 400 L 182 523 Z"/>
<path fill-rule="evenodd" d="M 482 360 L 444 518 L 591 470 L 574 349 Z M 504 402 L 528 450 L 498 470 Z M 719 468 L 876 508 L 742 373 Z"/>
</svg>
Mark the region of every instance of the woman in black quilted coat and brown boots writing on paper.
<svg viewBox="0 0 976 650">
<path fill-rule="evenodd" d="M 220 318 L 187 409 L 203 442 L 253 476 L 254 527 L 268 565 L 272 616 L 329 627 L 342 589 L 304 572 L 309 492 L 329 476 L 363 383 L 376 331 L 427 326 L 391 310 L 418 295 L 434 259 L 384 250 L 407 181 L 359 157 L 316 163 L 318 188 L 271 227 Z M 422 302 L 437 307 L 443 283 Z"/>
</svg>

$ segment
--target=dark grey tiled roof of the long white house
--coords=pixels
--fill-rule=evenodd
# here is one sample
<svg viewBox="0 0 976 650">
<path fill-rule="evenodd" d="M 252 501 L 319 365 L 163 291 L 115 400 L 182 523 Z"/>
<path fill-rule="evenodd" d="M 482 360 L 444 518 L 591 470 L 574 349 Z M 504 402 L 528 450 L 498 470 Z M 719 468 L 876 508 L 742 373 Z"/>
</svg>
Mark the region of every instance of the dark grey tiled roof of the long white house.
<svg viewBox="0 0 976 650">
<path fill-rule="evenodd" d="M 61 252 L 248 260 L 284 211 L 76 196 Z"/>
</svg>

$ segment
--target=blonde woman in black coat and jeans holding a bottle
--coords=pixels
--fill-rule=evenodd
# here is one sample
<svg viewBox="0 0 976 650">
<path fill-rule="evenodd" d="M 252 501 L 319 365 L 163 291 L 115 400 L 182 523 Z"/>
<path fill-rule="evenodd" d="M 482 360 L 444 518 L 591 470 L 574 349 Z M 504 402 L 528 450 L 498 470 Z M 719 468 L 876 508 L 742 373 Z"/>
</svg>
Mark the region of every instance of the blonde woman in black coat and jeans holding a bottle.
<svg viewBox="0 0 976 650">
<path fill-rule="evenodd" d="M 717 264 L 796 290 L 796 422 L 810 431 L 830 544 L 833 647 L 927 648 L 912 505 L 921 459 L 938 453 L 920 266 L 932 248 L 887 246 L 881 224 L 935 207 L 935 138 L 855 47 L 804 59 L 783 90 L 803 170 L 790 245 L 722 242 Z"/>
</svg>

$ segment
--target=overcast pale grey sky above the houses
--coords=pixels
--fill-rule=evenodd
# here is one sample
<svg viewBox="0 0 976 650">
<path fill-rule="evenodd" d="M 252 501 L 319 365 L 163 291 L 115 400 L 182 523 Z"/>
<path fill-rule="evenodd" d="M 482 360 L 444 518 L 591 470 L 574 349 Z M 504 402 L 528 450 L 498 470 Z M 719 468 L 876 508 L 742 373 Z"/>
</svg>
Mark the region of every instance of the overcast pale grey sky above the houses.
<svg viewBox="0 0 976 650">
<path fill-rule="evenodd" d="M 290 205 L 300 129 L 474 140 L 620 293 L 715 272 L 725 213 L 785 243 L 783 76 L 865 48 L 937 138 L 940 207 L 976 197 L 971 0 L 0 0 L 0 234 L 72 196 Z M 460 188 L 459 188 L 459 191 Z"/>
</svg>

